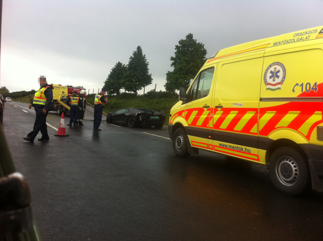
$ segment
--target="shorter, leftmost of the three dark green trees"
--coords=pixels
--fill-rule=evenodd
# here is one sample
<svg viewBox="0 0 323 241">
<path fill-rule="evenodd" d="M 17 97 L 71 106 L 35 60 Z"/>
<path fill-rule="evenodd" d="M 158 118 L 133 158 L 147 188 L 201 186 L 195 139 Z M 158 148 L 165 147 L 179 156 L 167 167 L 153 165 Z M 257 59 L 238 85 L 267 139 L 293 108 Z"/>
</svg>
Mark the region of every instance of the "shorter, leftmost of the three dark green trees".
<svg viewBox="0 0 323 241">
<path fill-rule="evenodd" d="M 111 70 L 104 82 L 104 88 L 108 94 L 120 94 L 120 89 L 123 88 L 124 75 L 126 73 L 126 65 L 118 62 Z"/>
</svg>

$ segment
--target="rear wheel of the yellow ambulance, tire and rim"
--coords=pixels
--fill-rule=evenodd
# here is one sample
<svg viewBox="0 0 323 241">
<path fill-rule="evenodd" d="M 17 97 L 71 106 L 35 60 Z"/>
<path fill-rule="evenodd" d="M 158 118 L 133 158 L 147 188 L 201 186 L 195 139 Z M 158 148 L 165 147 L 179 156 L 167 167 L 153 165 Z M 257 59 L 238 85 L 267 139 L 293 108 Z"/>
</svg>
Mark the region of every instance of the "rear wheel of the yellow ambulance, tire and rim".
<svg viewBox="0 0 323 241">
<path fill-rule="evenodd" d="M 295 148 L 275 150 L 269 160 L 269 173 L 274 186 L 283 193 L 297 196 L 310 190 L 307 158 Z"/>
</svg>

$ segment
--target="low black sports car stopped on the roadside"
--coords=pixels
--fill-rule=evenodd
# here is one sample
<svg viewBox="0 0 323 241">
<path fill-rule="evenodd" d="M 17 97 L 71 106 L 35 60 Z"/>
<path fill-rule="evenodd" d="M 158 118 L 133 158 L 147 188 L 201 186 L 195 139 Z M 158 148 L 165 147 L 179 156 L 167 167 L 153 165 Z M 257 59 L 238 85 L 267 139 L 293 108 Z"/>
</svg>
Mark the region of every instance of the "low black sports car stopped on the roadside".
<svg viewBox="0 0 323 241">
<path fill-rule="evenodd" d="M 151 127 L 160 129 L 165 123 L 164 111 L 146 108 L 122 108 L 106 114 L 106 123 L 128 127 Z"/>
</svg>

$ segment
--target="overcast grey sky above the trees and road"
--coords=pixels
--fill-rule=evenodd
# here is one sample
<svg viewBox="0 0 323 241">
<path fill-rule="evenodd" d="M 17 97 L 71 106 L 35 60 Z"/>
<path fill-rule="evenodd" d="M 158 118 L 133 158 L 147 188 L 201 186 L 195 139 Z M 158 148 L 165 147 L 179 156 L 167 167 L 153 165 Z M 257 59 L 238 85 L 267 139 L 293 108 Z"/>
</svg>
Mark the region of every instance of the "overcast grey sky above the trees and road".
<svg viewBox="0 0 323 241">
<path fill-rule="evenodd" d="M 0 87 L 102 88 L 140 45 L 165 90 L 175 45 L 192 33 L 207 57 L 222 48 L 323 25 L 322 0 L 3 0 Z M 143 90 L 138 92 L 143 93 Z"/>
</svg>

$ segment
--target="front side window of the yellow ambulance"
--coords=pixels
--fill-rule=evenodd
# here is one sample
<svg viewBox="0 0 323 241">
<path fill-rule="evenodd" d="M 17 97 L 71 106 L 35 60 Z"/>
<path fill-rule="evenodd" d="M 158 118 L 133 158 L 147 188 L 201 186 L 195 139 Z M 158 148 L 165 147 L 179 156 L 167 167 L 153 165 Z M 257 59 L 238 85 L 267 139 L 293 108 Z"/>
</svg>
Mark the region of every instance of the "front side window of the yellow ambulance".
<svg viewBox="0 0 323 241">
<path fill-rule="evenodd" d="M 206 97 L 211 89 L 214 68 L 202 71 L 194 80 L 187 93 L 188 101 Z"/>
</svg>

